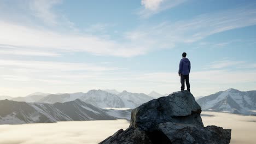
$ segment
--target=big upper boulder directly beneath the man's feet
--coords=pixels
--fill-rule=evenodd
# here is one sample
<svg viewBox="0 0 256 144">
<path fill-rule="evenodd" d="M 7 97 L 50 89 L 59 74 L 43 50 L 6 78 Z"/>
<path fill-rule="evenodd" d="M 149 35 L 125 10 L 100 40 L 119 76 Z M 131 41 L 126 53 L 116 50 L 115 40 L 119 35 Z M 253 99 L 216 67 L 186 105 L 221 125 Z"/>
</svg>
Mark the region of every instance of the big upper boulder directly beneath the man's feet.
<svg viewBox="0 0 256 144">
<path fill-rule="evenodd" d="M 152 129 L 165 122 L 198 124 L 203 126 L 200 117 L 201 107 L 193 95 L 188 92 L 177 92 L 150 100 L 132 110 L 130 127 Z"/>
</svg>

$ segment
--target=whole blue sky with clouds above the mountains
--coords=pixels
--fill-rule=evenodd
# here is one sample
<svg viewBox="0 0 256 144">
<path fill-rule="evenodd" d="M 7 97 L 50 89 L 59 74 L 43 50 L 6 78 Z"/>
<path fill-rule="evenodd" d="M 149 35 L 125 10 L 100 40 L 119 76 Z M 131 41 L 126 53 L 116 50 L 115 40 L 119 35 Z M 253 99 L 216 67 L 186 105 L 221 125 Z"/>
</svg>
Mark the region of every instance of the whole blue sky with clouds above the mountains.
<svg viewBox="0 0 256 144">
<path fill-rule="evenodd" d="M 1 1 L 0 95 L 256 88 L 256 1 Z"/>
</svg>

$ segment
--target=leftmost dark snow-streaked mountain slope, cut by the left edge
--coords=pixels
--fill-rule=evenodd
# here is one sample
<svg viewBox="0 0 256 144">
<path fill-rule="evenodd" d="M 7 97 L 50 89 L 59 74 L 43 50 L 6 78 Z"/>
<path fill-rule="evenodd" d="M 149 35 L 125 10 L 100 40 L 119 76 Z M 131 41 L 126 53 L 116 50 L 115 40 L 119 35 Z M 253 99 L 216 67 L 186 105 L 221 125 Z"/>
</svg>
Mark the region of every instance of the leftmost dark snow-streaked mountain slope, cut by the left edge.
<svg viewBox="0 0 256 144">
<path fill-rule="evenodd" d="M 64 119 L 67 117 L 63 113 L 58 113 L 58 110 L 50 104 L 37 106 L 24 101 L 0 100 L 1 124 L 49 123 L 60 120 L 60 117 L 52 116 L 51 113 L 60 115 Z"/>
</svg>

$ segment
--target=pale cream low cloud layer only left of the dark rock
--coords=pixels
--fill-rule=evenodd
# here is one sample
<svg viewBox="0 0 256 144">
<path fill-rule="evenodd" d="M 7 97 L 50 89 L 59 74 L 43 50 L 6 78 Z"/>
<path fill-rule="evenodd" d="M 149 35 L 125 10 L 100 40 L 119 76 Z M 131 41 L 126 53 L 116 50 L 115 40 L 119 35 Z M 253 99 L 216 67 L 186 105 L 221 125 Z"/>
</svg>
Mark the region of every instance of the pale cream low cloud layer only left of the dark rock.
<svg viewBox="0 0 256 144">
<path fill-rule="evenodd" d="M 98 143 L 128 126 L 126 120 L 0 125 L 0 143 Z"/>
</svg>

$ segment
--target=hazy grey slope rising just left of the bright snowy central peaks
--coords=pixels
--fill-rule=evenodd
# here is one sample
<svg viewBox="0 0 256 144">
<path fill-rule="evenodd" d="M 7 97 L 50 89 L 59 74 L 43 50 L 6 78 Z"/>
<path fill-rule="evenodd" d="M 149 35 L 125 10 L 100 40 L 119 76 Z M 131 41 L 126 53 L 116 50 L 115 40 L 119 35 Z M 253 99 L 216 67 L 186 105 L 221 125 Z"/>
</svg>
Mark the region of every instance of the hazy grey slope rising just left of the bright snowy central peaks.
<svg viewBox="0 0 256 144">
<path fill-rule="evenodd" d="M 67 101 L 72 101 L 75 99 L 80 99 L 85 93 L 79 92 L 79 93 L 64 93 L 64 94 L 50 94 L 46 97 L 43 97 L 42 99 L 39 99 L 38 103 L 48 103 L 48 104 L 54 104 L 54 103 L 65 103 Z"/>
</svg>

